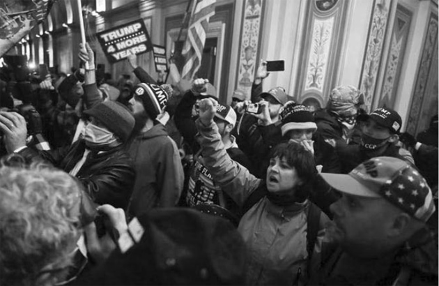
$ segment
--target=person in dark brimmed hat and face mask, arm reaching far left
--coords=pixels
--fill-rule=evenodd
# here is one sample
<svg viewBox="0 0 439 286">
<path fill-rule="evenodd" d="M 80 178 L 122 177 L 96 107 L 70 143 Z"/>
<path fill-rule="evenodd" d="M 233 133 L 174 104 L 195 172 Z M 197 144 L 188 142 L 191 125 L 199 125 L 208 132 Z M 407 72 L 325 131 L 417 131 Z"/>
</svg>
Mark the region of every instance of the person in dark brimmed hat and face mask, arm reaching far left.
<svg viewBox="0 0 439 286">
<path fill-rule="evenodd" d="M 84 112 L 91 116 L 84 138 L 71 146 L 50 151 L 34 151 L 26 147 L 26 121 L 15 112 L 0 112 L 0 130 L 6 149 L 27 160 L 45 160 L 76 176 L 88 195 L 98 204 L 125 208 L 135 178 L 133 163 L 124 151 L 134 128 L 134 117 L 120 103 L 106 101 Z M 41 157 L 40 157 L 41 156 Z"/>
</svg>

